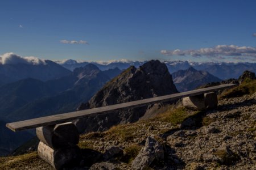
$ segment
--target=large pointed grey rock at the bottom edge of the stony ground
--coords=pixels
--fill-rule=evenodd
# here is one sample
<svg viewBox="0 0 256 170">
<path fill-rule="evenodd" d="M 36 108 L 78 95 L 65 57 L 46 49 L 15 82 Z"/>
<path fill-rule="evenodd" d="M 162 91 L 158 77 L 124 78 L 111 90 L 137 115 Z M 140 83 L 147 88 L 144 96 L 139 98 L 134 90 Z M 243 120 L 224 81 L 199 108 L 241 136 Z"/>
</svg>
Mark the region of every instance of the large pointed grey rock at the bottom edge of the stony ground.
<svg viewBox="0 0 256 170">
<path fill-rule="evenodd" d="M 133 169 L 143 169 L 149 167 L 154 160 L 162 160 L 163 158 L 163 147 L 155 139 L 147 137 L 144 148 L 133 160 L 131 167 Z"/>
</svg>

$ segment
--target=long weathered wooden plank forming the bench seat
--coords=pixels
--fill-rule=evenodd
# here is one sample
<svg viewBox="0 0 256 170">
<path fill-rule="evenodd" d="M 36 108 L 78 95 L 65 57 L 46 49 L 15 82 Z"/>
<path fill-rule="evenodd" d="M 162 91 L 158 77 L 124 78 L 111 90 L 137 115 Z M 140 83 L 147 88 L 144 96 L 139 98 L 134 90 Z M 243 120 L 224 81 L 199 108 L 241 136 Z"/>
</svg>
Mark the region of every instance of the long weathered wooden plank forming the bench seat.
<svg viewBox="0 0 256 170">
<path fill-rule="evenodd" d="M 175 100 L 175 99 L 179 99 L 182 97 L 195 96 L 195 95 L 204 94 L 204 93 L 212 92 L 212 91 L 218 91 L 218 90 L 221 90 L 224 88 L 230 88 L 230 87 L 234 87 L 234 86 L 237 86 L 237 84 L 223 84 L 220 86 L 201 88 L 198 90 L 181 92 L 181 93 L 172 94 L 172 95 L 152 97 L 149 99 L 136 100 L 136 101 L 131 101 L 128 103 L 114 104 L 114 105 L 109 105 L 106 107 L 86 109 L 83 111 L 76 111 L 76 112 L 69 112 L 69 113 L 63 113 L 63 114 L 55 114 L 55 115 L 46 116 L 46 117 L 33 118 L 30 120 L 9 123 L 9 124 L 6 124 L 6 126 L 7 126 L 7 128 L 9 128 L 13 131 L 38 128 L 40 126 L 55 125 L 55 124 L 60 124 L 63 122 L 73 121 L 73 120 L 76 120 L 77 118 L 82 118 L 82 117 L 86 117 L 86 116 L 93 116 L 96 114 L 108 113 L 108 112 L 117 111 L 119 109 L 126 109 L 126 108 L 131 108 L 131 107 L 142 107 L 142 106 L 148 105 L 148 104 L 154 104 L 154 103 L 159 103 L 159 102 L 164 102 L 164 101 Z"/>
</svg>

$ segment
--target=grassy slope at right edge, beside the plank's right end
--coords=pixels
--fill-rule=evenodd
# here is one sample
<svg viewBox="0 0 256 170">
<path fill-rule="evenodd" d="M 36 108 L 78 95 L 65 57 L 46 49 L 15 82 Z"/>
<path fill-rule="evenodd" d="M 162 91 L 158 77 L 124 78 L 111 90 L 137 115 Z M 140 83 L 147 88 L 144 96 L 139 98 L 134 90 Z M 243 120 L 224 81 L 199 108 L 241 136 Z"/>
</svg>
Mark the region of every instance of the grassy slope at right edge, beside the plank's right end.
<svg viewBox="0 0 256 170">
<path fill-rule="evenodd" d="M 256 80 L 246 80 L 240 86 L 231 88 L 224 91 L 220 98 L 229 98 L 229 97 L 240 97 L 243 95 L 252 95 L 256 92 Z"/>
</svg>

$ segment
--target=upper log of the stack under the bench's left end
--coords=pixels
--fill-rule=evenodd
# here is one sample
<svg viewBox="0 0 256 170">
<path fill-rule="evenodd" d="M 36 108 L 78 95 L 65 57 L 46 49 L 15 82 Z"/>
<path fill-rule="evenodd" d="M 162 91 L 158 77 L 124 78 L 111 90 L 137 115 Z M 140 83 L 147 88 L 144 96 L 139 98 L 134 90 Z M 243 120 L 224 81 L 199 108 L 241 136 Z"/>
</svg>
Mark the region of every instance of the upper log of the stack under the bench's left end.
<svg viewBox="0 0 256 170">
<path fill-rule="evenodd" d="M 36 136 L 53 149 L 73 147 L 79 143 L 79 131 L 72 122 L 36 128 Z"/>
</svg>

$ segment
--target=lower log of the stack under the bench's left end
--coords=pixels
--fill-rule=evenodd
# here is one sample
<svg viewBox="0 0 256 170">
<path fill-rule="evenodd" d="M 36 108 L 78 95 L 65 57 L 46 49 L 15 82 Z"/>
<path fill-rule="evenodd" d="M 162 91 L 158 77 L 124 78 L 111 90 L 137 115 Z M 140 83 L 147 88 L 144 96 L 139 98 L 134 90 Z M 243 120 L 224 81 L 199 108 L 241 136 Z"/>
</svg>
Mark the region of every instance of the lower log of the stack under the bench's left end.
<svg viewBox="0 0 256 170">
<path fill-rule="evenodd" d="M 75 167 L 81 160 L 80 150 L 77 146 L 53 150 L 42 141 L 38 145 L 38 155 L 55 169 Z"/>
</svg>

